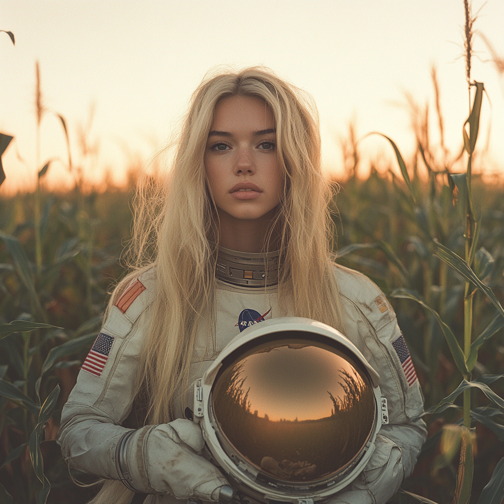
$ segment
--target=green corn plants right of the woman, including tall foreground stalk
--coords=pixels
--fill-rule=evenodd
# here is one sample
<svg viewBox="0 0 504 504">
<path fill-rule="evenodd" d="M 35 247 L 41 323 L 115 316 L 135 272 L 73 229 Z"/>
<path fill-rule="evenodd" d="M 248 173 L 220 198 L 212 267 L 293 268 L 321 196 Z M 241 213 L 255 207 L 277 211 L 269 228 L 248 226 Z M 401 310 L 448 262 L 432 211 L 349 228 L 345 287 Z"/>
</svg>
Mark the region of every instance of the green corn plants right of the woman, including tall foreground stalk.
<svg viewBox="0 0 504 504">
<path fill-rule="evenodd" d="M 492 502 L 504 497 L 504 487 L 498 487 L 502 465 L 497 464 L 504 449 L 487 441 L 491 436 L 504 438 L 503 390 L 496 383 L 504 360 L 504 202 L 502 187 L 484 184 L 472 173 L 484 90 L 481 83 L 474 83 L 474 88 L 463 130 L 465 173 L 452 173 L 446 155 L 439 167 L 435 154 L 425 147 L 426 125 L 425 132 L 417 133 L 418 151 L 409 169 L 395 143 L 383 135 L 394 148 L 404 185 L 392 172 L 390 181 L 375 171 L 361 181 L 354 171 L 338 196 L 344 233 L 338 260 L 365 272 L 393 298 L 426 405 L 432 405 L 427 420 L 459 429 L 458 469 L 453 454 L 442 463 L 441 455 L 434 456 L 432 450 L 442 443 L 434 435 L 422 451 L 424 458 L 432 459 L 430 470 L 416 477 L 417 487 L 415 478 L 409 483 L 409 488 L 437 502 L 453 497 L 465 503 L 471 494 L 476 502 L 480 493 L 481 499 Z M 418 174 L 419 161 L 426 178 Z M 424 311 L 404 300 L 415 301 Z M 431 420 L 433 414 L 437 418 Z M 483 430 L 478 426 L 473 440 L 472 426 L 478 423 Z M 474 451 L 477 446 L 486 448 Z M 473 471 L 480 477 L 473 480 Z M 429 478 L 444 490 L 433 491 Z M 396 496 L 397 501 L 411 498 Z"/>
</svg>

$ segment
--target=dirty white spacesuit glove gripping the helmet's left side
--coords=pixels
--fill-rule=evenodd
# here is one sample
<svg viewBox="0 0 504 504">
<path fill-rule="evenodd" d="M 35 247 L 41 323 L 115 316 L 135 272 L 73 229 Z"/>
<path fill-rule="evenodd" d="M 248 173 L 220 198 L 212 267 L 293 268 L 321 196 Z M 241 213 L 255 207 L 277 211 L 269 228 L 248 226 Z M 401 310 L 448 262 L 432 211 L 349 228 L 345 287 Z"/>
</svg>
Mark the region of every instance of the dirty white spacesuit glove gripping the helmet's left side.
<svg viewBox="0 0 504 504">
<path fill-rule="evenodd" d="M 119 479 L 137 492 L 216 502 L 220 488 L 229 483 L 199 455 L 204 446 L 200 426 L 190 420 L 129 431 L 117 446 Z"/>
</svg>

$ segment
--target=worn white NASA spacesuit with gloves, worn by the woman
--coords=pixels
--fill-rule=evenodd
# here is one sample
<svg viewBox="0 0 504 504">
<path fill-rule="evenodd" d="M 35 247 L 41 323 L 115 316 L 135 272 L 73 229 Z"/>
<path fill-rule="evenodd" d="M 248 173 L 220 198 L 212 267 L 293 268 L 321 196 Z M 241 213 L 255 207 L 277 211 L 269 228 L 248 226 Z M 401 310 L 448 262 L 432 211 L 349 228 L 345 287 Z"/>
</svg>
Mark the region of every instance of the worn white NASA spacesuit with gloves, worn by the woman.
<svg viewBox="0 0 504 504">
<path fill-rule="evenodd" d="M 192 383 L 201 378 L 239 331 L 265 319 L 293 315 L 278 312 L 275 285 L 265 288 L 262 280 L 262 288 L 250 287 L 261 284 L 259 263 L 242 266 L 240 271 L 238 259 L 232 264 L 232 258 L 226 260 L 229 255 L 220 257 L 224 260 L 218 261 L 216 316 L 212 321 L 216 337 L 209 341 L 207 321 L 201 324 L 191 366 Z M 275 280 L 273 270 L 270 265 L 268 278 Z M 328 502 L 384 504 L 413 471 L 425 440 L 425 424 L 415 420 L 423 412 L 423 398 L 385 295 L 353 270 L 335 266 L 334 274 L 345 336 L 380 374 L 380 390 L 388 399 L 389 424 L 377 434 L 375 450 L 362 473 Z M 200 427 L 183 420 L 183 407 L 193 407 L 192 389 L 184 405 L 173 406 L 177 420 L 136 430 L 121 426 L 135 399 L 138 359 L 156 291 L 154 277 L 154 269 L 142 274 L 112 307 L 62 411 L 58 443 L 72 467 L 120 479 L 130 489 L 152 494 L 146 503 L 174 504 L 183 499 L 185 504 L 189 496 L 216 500 L 227 481 L 200 455 L 204 448 Z"/>
</svg>

